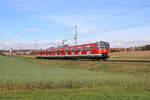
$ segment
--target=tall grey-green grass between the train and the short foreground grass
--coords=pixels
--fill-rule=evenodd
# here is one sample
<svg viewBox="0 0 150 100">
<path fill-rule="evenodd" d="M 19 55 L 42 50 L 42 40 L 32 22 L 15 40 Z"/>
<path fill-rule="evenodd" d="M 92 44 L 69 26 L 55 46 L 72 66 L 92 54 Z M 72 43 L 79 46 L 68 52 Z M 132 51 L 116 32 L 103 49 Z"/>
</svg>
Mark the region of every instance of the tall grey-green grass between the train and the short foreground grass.
<svg viewBox="0 0 150 100">
<path fill-rule="evenodd" d="M 89 68 L 86 70 L 81 67 L 77 68 L 78 66 L 84 65 L 83 63 L 91 62 L 39 64 L 37 62 L 31 62 L 31 60 L 28 62 L 20 58 L 3 56 L 0 56 L 0 61 L 0 91 L 46 90 L 57 88 L 122 88 L 137 91 L 150 90 L 149 73 L 139 72 L 140 74 L 132 74 L 126 71 L 122 72 L 121 70 L 124 69 L 119 69 L 120 71 L 118 73 L 114 73 L 113 70 L 109 71 L 112 69 L 112 67 L 109 68 L 109 64 L 100 64 L 100 62 L 92 63 L 98 67 L 96 67 L 97 70 L 93 71 L 90 68 L 94 66 L 87 66 Z M 72 67 L 71 65 L 73 65 L 74 68 L 69 68 Z M 102 66 L 105 66 L 105 68 L 101 68 Z M 113 66 L 116 68 L 115 65 Z M 132 67 L 133 66 L 134 64 Z M 145 66 L 145 68 L 149 70 L 149 65 L 145 64 Z"/>
</svg>

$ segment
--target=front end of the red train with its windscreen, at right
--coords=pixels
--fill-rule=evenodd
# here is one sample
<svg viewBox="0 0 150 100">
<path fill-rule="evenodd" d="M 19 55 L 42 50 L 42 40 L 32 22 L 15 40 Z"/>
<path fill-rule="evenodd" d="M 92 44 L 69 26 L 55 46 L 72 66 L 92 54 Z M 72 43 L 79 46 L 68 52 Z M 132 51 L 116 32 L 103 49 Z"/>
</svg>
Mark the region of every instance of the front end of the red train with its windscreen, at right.
<svg viewBox="0 0 150 100">
<path fill-rule="evenodd" d="M 108 42 L 98 42 L 97 43 L 97 55 L 98 59 L 102 57 L 102 59 L 106 60 L 110 56 L 110 46 Z"/>
</svg>

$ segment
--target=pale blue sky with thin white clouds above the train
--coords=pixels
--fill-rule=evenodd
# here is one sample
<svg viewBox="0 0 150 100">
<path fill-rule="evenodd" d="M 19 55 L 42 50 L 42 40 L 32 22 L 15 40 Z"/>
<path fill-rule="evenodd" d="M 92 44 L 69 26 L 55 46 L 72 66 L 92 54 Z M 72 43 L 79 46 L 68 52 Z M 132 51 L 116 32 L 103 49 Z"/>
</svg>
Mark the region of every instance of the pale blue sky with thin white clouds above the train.
<svg viewBox="0 0 150 100">
<path fill-rule="evenodd" d="M 107 18 L 146 4 L 150 1 L 1 0 L 0 42 L 57 42 L 72 38 L 74 25 L 78 25 L 79 43 L 150 40 L 150 7 Z"/>
</svg>

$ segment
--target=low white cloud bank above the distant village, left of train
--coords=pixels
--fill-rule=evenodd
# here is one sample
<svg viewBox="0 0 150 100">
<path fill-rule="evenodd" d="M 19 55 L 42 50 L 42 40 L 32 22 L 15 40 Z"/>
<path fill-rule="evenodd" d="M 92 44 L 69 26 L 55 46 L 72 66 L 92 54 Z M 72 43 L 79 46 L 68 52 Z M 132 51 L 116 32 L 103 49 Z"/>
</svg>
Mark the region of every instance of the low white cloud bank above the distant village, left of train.
<svg viewBox="0 0 150 100">
<path fill-rule="evenodd" d="M 0 41 L 0 49 L 47 49 L 50 47 L 61 46 L 62 41 L 53 40 L 53 41 L 32 41 L 32 42 L 17 42 L 17 41 Z"/>
</svg>

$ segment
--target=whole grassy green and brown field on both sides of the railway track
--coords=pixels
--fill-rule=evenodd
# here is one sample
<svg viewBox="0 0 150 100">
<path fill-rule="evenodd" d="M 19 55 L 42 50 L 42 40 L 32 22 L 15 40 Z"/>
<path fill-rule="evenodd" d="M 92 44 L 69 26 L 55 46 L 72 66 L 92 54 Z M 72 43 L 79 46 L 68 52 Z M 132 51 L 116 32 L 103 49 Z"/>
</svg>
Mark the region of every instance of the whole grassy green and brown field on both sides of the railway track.
<svg viewBox="0 0 150 100">
<path fill-rule="evenodd" d="M 0 56 L 0 100 L 148 100 L 149 52 L 131 53 L 108 62 Z"/>
</svg>

